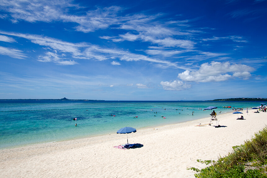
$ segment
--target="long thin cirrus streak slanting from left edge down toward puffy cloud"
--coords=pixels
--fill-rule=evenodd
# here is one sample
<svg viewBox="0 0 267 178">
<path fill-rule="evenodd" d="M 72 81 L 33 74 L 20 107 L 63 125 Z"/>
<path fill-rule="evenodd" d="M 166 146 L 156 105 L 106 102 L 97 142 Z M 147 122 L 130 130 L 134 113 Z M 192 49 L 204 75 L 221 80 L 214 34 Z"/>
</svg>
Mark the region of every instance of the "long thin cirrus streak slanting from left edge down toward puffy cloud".
<svg viewBox="0 0 267 178">
<path fill-rule="evenodd" d="M 74 59 L 92 59 L 92 60 L 119 59 L 125 61 L 144 60 L 153 63 L 160 63 L 165 66 L 172 66 L 175 68 L 179 68 L 179 66 L 176 63 L 172 63 L 168 60 L 150 58 L 148 56 L 135 54 L 127 50 L 104 48 L 98 45 L 92 45 L 90 43 L 85 43 L 85 42 L 81 43 L 65 42 L 59 39 L 44 37 L 41 35 L 11 33 L 3 31 L 0 31 L 0 33 L 20 38 L 25 38 L 30 40 L 32 43 L 48 47 L 48 50 L 50 51 L 46 52 L 45 55 L 39 56 L 38 60 L 41 62 L 55 62 L 60 65 L 77 64 L 77 62 L 73 60 L 68 60 L 68 61 L 64 60 L 65 57 L 64 55 L 62 56 L 62 53 L 65 53 L 65 54 L 70 54 Z M 51 50 L 58 51 L 58 54 L 51 52 Z"/>
</svg>

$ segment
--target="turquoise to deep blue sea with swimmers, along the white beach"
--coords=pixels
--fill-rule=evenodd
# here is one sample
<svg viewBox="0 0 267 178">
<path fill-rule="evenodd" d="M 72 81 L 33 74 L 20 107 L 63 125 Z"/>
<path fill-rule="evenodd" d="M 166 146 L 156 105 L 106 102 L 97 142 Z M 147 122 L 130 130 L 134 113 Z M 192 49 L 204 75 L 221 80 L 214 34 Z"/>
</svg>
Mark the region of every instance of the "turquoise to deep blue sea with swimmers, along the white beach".
<svg viewBox="0 0 267 178">
<path fill-rule="evenodd" d="M 250 109 L 260 105 L 259 103 L 0 100 L 0 149 L 116 133 L 126 126 L 138 130 L 187 122 L 209 117 L 211 111 L 203 111 L 208 106 L 218 107 L 216 113 L 226 113 L 232 112 L 232 108 L 226 109 L 223 106 Z M 73 118 L 77 120 L 74 121 Z"/>
</svg>

